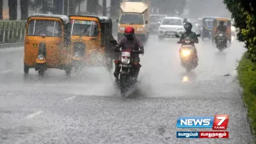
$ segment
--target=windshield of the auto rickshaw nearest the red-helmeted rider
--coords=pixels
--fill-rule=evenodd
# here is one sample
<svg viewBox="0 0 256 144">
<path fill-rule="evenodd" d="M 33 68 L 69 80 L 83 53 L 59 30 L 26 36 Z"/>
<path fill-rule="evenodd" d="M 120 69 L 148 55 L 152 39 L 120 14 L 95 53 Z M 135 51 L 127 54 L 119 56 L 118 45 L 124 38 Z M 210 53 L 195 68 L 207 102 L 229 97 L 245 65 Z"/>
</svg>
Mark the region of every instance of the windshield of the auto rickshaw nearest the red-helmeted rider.
<svg viewBox="0 0 256 144">
<path fill-rule="evenodd" d="M 76 36 L 98 36 L 99 29 L 96 21 L 93 20 L 71 20 L 71 35 Z"/>
</svg>

